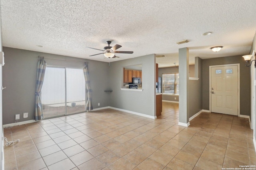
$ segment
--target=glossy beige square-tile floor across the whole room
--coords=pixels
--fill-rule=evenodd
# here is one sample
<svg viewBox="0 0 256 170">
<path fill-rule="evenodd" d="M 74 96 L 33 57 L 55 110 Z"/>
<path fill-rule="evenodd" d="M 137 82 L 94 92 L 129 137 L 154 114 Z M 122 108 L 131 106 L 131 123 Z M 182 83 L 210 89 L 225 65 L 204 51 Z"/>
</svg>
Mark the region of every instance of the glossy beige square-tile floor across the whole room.
<svg viewBox="0 0 256 170">
<path fill-rule="evenodd" d="M 256 165 L 248 119 L 201 113 L 178 125 L 178 104 L 150 119 L 104 109 L 4 129 L 6 170 L 221 170 Z"/>
</svg>

